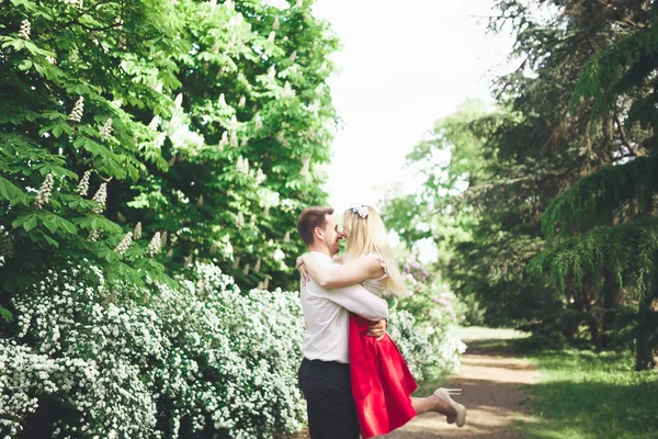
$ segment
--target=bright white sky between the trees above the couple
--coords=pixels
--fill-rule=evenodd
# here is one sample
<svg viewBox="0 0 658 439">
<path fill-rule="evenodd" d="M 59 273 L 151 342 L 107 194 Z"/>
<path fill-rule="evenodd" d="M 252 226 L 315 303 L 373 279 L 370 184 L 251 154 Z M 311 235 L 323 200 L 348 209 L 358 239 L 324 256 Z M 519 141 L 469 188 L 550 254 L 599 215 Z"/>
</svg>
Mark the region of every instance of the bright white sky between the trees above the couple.
<svg viewBox="0 0 658 439">
<path fill-rule="evenodd" d="M 342 50 L 330 78 L 343 120 L 332 145 L 326 190 L 338 212 L 377 205 L 386 189 L 412 177 L 405 156 L 433 122 L 467 98 L 489 101 L 511 40 L 485 32 L 494 0 L 318 0 Z M 411 184 L 412 185 L 412 184 Z"/>
</svg>

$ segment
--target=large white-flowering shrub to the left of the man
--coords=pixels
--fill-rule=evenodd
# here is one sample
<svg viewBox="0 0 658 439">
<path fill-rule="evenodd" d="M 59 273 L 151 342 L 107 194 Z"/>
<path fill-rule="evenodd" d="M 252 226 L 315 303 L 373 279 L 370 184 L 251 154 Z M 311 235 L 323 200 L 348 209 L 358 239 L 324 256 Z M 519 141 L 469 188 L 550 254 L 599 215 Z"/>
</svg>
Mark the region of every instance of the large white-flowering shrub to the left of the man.
<svg viewBox="0 0 658 439">
<path fill-rule="evenodd" d="M 77 267 L 16 295 L 16 333 L 0 339 L 0 437 L 299 430 L 297 295 L 243 295 L 204 264 L 179 282 L 152 292 Z"/>
</svg>

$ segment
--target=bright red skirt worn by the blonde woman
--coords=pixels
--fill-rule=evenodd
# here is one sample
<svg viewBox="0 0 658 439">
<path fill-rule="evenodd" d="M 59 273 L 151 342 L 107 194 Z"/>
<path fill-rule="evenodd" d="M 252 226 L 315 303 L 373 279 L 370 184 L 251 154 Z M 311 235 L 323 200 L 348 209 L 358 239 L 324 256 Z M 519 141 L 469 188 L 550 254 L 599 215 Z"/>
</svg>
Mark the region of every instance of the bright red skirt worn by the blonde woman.
<svg viewBox="0 0 658 439">
<path fill-rule="evenodd" d="M 352 393 L 364 439 L 385 435 L 416 416 L 411 393 L 417 384 L 393 339 L 365 334 L 370 322 L 350 315 Z"/>
</svg>

